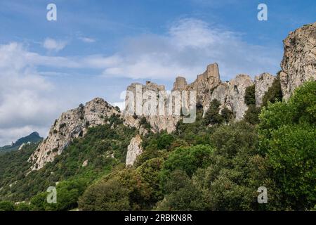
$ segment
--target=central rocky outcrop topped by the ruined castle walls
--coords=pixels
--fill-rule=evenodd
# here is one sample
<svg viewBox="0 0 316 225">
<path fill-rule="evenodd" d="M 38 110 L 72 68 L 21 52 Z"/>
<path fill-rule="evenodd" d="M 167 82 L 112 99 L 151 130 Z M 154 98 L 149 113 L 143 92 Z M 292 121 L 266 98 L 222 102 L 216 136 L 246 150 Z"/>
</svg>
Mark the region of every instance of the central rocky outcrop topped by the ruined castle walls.
<svg viewBox="0 0 316 225">
<path fill-rule="evenodd" d="M 252 84 L 253 82 L 248 75 L 237 75 L 237 77 L 231 79 L 230 82 L 221 82 L 218 64 L 213 63 L 208 65 L 206 71 L 202 73 L 202 75 L 198 75 L 197 79 L 191 84 L 187 84 L 184 77 L 177 77 L 176 82 L 173 83 L 171 93 L 178 91 L 178 93 L 181 94 L 182 91 L 187 91 L 188 94 L 190 91 L 196 91 L 196 103 L 203 106 L 204 113 L 209 109 L 211 101 L 217 99 L 221 103 L 220 109 L 226 107 L 229 110 L 232 110 L 235 115 L 235 120 L 238 121 L 242 120 L 244 113 L 248 109 L 246 103 L 244 103 L 244 95 L 246 87 Z M 125 113 L 133 109 L 132 112 L 135 113 L 135 115 L 128 115 L 128 113 L 125 115 L 127 124 L 133 127 L 138 127 L 140 124 L 140 117 L 145 117 L 147 122 L 150 123 L 152 131 L 157 132 L 166 130 L 171 133 L 176 129 L 176 124 L 181 119 L 180 114 L 176 115 L 174 111 L 172 111 L 172 115 L 159 115 L 159 103 L 157 103 L 157 114 L 146 115 L 143 109 L 146 102 L 146 100 L 143 100 L 143 96 L 146 91 L 152 91 L 152 98 L 156 98 L 156 96 L 159 96 L 159 91 L 165 91 L 165 89 L 164 86 L 152 82 L 146 82 L 145 85 L 133 83 L 128 86 Z M 133 98 L 134 101 L 129 101 L 130 98 Z M 136 101 L 136 99 L 138 99 L 138 101 Z M 168 103 L 165 101 L 164 111 L 166 112 L 166 105 L 171 104 L 174 108 L 177 104 L 183 104 L 181 101 L 182 99 L 179 101 L 169 101 Z M 137 102 L 140 102 L 140 104 Z M 189 101 L 185 104 L 187 106 L 190 105 Z M 137 108 L 139 108 L 139 110 Z"/>
</svg>

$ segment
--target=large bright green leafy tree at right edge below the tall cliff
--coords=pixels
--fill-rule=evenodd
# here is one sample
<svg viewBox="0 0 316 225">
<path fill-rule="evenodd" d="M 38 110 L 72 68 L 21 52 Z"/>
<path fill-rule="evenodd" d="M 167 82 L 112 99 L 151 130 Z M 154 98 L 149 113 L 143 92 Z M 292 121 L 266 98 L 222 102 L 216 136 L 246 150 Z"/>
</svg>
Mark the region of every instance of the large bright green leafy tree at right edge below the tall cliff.
<svg viewBox="0 0 316 225">
<path fill-rule="evenodd" d="M 289 101 L 268 104 L 260 115 L 261 152 L 282 193 L 282 205 L 312 208 L 316 201 L 316 82 L 296 89 Z"/>
</svg>

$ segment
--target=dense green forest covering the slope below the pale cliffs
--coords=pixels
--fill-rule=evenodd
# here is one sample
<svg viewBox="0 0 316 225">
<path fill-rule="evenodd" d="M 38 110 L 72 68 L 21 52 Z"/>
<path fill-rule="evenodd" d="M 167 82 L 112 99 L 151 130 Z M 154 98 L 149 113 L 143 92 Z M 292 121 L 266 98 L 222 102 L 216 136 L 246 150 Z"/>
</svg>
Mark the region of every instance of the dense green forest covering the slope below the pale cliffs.
<svg viewBox="0 0 316 225">
<path fill-rule="evenodd" d="M 286 102 L 276 80 L 261 108 L 249 86 L 245 102 L 240 122 L 213 101 L 172 134 L 150 132 L 144 119 L 133 167 L 124 162 L 138 131 L 115 115 L 39 171 L 27 174 L 36 144 L 0 155 L 0 210 L 316 210 L 316 82 Z M 48 186 L 57 204 L 47 203 Z M 260 186 L 267 204 L 257 202 Z"/>
</svg>

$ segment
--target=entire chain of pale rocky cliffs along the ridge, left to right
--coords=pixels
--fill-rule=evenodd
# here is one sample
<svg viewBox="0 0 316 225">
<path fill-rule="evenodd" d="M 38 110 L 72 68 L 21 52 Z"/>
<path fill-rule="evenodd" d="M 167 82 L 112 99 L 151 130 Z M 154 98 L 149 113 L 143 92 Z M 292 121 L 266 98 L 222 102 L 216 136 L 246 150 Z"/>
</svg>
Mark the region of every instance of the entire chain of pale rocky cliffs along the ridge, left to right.
<svg viewBox="0 0 316 225">
<path fill-rule="evenodd" d="M 284 98 L 289 98 L 296 87 L 310 79 L 316 79 L 316 23 L 305 25 L 291 32 L 284 40 L 284 57 L 281 63 L 282 71 L 279 80 Z M 255 77 L 254 81 L 249 75 L 237 75 L 229 82 L 220 81 L 220 72 L 217 63 L 207 66 L 206 71 L 197 76 L 194 82 L 187 84 L 185 77 L 177 77 L 173 83 L 173 93 L 178 91 L 196 91 L 197 104 L 202 105 L 204 113 L 209 109 L 211 101 L 220 101 L 220 108 L 232 110 L 235 120 L 242 120 L 248 109 L 244 102 L 246 88 L 254 85 L 256 106 L 261 106 L 263 96 L 268 88 L 275 82 L 276 77 L 263 73 Z M 40 169 L 46 162 L 54 160 L 62 150 L 75 138 L 84 136 L 88 127 L 93 127 L 106 122 L 105 118 L 113 114 L 119 115 L 126 126 L 136 127 L 140 134 L 146 134 L 147 128 L 143 122 L 150 124 L 154 132 L 166 130 L 171 133 L 176 129 L 177 122 L 182 118 L 171 113 L 182 99 L 172 98 L 157 102 L 154 107 L 148 100 L 157 98 L 165 93 L 163 85 L 146 82 L 146 84 L 133 83 L 127 87 L 126 109 L 119 113 L 116 108 L 109 105 L 102 98 L 95 98 L 80 105 L 79 108 L 62 113 L 55 121 L 48 137 L 39 148 L 31 155 L 31 169 Z M 162 98 L 164 99 L 164 98 Z M 132 100 L 132 101 L 131 101 Z M 195 105 L 196 106 L 196 105 Z M 152 114 L 152 110 L 154 113 Z M 165 114 L 160 114 L 162 111 Z M 174 113 L 174 112 L 173 112 Z M 127 149 L 126 165 L 133 165 L 136 157 L 142 153 L 140 136 L 131 140 Z"/>
</svg>

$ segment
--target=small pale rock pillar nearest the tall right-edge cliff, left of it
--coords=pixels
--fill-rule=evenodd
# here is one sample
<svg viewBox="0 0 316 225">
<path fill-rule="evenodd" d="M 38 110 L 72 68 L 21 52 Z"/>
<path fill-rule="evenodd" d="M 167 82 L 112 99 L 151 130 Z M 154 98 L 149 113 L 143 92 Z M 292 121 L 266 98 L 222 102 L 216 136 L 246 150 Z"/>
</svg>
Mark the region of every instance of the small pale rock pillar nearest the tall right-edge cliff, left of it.
<svg viewBox="0 0 316 225">
<path fill-rule="evenodd" d="M 268 91 L 269 87 L 275 82 L 276 77 L 270 75 L 268 72 L 264 72 L 261 75 L 255 77 L 255 97 L 256 97 L 256 107 L 262 105 L 263 96 L 265 92 Z"/>
</svg>

